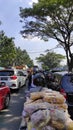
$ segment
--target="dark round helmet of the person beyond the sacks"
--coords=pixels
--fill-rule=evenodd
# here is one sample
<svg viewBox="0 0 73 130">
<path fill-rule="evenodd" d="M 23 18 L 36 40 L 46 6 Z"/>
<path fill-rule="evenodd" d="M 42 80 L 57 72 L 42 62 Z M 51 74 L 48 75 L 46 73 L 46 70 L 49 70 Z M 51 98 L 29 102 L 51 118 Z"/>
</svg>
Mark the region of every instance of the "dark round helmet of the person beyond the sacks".
<svg viewBox="0 0 73 130">
<path fill-rule="evenodd" d="M 37 73 L 33 76 L 33 84 L 36 86 L 45 86 L 45 77 L 42 73 Z"/>
</svg>

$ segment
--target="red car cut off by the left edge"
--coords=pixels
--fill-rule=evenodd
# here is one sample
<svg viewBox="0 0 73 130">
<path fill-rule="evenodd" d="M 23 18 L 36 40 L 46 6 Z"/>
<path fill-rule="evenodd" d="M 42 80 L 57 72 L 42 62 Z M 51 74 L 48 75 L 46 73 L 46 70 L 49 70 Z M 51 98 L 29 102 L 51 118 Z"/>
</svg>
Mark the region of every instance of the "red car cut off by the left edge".
<svg viewBox="0 0 73 130">
<path fill-rule="evenodd" d="M 5 83 L 0 83 L 0 110 L 7 108 L 10 103 L 10 88 Z"/>
</svg>

